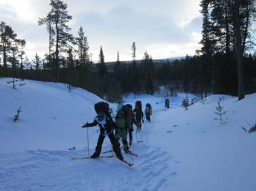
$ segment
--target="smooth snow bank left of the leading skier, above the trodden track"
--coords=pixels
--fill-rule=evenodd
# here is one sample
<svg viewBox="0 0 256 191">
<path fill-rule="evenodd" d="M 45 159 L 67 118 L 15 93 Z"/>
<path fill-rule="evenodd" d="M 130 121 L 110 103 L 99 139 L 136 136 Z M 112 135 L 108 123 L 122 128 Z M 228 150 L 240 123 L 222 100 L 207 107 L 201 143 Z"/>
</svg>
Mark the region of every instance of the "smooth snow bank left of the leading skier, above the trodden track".
<svg viewBox="0 0 256 191">
<path fill-rule="evenodd" d="M 0 153 L 84 148 L 87 134 L 81 126 L 94 119 L 93 105 L 102 99 L 81 88 L 68 92 L 61 83 L 25 80 L 25 86 L 13 89 L 6 84 L 9 80 L 0 80 Z M 22 111 L 15 123 L 19 107 Z M 96 130 L 91 130 L 92 140 L 98 136 Z"/>
</svg>

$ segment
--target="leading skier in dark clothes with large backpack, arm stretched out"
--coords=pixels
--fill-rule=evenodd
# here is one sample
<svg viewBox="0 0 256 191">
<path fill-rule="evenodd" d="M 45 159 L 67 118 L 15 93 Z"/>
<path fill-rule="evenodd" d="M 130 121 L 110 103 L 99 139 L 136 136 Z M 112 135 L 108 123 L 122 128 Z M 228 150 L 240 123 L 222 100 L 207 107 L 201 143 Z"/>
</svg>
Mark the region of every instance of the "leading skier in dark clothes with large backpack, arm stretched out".
<svg viewBox="0 0 256 191">
<path fill-rule="evenodd" d="M 102 151 L 102 144 L 106 136 L 108 136 L 114 153 L 116 157 L 123 161 L 123 156 L 121 154 L 120 144 L 114 137 L 113 128 L 116 127 L 116 124 L 112 120 L 110 113 L 108 112 L 109 106 L 106 102 L 99 102 L 94 105 L 95 111 L 98 115 L 95 117 L 92 123 L 86 123 L 82 126 L 82 128 L 89 128 L 93 126 L 100 127 L 100 135 L 98 138 L 97 146 L 95 148 L 95 152 L 91 155 L 91 158 L 98 158 L 100 157 L 100 153 Z"/>
</svg>

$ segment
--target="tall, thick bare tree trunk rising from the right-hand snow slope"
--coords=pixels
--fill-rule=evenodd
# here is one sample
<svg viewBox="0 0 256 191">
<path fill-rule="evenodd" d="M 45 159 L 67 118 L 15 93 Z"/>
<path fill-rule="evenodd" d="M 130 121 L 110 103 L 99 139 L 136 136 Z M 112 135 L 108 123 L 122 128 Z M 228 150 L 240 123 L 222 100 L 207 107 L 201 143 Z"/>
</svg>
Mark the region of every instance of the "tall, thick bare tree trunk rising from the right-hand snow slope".
<svg viewBox="0 0 256 191">
<path fill-rule="evenodd" d="M 240 30 L 240 0 L 235 0 L 234 3 L 234 29 L 236 35 L 236 63 L 238 72 L 238 100 L 244 99 L 244 70 L 242 65 L 242 45 L 241 45 L 241 30 Z"/>
</svg>

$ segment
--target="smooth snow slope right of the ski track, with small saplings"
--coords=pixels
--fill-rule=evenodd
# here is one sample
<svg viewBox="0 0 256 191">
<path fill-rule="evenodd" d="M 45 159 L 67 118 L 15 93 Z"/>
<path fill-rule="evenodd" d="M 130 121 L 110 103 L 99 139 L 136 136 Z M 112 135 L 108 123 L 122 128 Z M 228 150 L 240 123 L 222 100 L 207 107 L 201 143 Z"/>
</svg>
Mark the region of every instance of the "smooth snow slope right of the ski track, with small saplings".
<svg viewBox="0 0 256 191">
<path fill-rule="evenodd" d="M 227 111 L 226 124 L 214 120 L 219 97 Z M 173 190 L 255 190 L 256 133 L 241 127 L 256 122 L 256 94 L 238 99 L 213 95 L 205 105 L 196 103 L 165 111 L 156 117 L 150 144 L 167 151 L 177 161 Z"/>
</svg>

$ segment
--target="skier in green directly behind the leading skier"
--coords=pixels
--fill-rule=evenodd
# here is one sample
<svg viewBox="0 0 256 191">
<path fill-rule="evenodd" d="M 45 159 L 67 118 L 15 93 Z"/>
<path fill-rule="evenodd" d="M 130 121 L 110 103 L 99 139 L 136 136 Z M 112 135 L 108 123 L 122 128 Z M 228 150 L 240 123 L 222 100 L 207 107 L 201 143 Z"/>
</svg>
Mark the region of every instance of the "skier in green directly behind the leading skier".
<svg viewBox="0 0 256 191">
<path fill-rule="evenodd" d="M 119 109 L 116 114 L 116 130 L 114 132 L 114 136 L 116 137 L 118 143 L 121 138 L 123 142 L 123 149 L 125 153 L 129 153 L 129 146 L 127 143 L 127 119 L 125 119 L 125 112 L 123 109 Z"/>
</svg>

